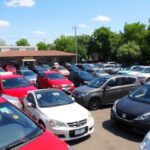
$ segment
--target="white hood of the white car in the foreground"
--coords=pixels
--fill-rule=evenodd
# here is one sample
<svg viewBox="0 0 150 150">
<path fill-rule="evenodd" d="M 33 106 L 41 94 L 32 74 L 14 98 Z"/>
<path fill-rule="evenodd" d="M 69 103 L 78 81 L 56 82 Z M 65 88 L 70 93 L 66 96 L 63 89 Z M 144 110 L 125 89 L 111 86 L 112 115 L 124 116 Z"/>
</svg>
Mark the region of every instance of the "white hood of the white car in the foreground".
<svg viewBox="0 0 150 150">
<path fill-rule="evenodd" d="M 75 122 L 88 118 L 88 111 L 76 102 L 63 106 L 40 108 L 49 119 L 64 123 Z"/>
</svg>

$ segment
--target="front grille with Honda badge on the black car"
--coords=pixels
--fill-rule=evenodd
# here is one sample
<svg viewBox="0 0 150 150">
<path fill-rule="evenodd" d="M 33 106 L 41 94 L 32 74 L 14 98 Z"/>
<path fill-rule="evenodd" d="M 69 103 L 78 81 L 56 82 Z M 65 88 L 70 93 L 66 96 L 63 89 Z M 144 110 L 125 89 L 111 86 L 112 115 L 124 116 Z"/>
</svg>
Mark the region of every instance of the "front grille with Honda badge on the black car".
<svg viewBox="0 0 150 150">
<path fill-rule="evenodd" d="M 137 115 L 122 112 L 120 110 L 117 110 L 116 113 L 120 118 L 125 119 L 125 120 L 129 120 L 129 121 L 132 121 L 137 117 Z"/>
</svg>

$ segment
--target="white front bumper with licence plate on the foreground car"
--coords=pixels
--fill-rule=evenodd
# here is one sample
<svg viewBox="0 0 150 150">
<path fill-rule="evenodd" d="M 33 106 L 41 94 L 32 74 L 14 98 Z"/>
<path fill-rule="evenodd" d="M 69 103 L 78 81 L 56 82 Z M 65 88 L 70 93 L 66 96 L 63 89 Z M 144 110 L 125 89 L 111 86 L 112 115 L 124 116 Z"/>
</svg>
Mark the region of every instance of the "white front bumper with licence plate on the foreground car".
<svg viewBox="0 0 150 150">
<path fill-rule="evenodd" d="M 84 126 L 74 128 L 52 128 L 49 124 L 46 127 L 63 141 L 70 141 L 90 135 L 94 131 L 94 120 L 87 122 Z"/>
</svg>

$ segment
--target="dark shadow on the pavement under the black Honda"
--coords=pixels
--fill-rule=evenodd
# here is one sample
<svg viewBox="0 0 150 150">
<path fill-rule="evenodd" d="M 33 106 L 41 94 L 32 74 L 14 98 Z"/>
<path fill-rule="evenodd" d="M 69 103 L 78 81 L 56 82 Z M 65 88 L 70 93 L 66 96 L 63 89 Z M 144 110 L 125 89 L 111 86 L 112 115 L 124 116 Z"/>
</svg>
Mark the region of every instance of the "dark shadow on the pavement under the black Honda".
<svg viewBox="0 0 150 150">
<path fill-rule="evenodd" d="M 139 134 L 136 134 L 132 131 L 124 129 L 111 120 L 104 121 L 102 123 L 102 126 L 104 129 L 115 134 L 116 136 L 122 137 L 124 139 L 129 140 L 129 141 L 134 141 L 134 142 L 139 143 L 139 142 L 142 142 L 142 140 L 144 138 L 144 135 L 139 135 Z"/>
</svg>

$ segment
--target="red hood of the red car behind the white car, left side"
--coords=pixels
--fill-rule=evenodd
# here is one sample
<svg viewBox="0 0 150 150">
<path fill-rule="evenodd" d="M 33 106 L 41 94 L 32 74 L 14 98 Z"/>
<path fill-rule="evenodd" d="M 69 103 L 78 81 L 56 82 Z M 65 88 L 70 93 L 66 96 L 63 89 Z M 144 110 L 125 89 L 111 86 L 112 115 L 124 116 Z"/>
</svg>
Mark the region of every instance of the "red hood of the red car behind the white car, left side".
<svg viewBox="0 0 150 150">
<path fill-rule="evenodd" d="M 21 98 L 22 96 L 25 96 L 27 92 L 30 90 L 36 90 L 36 87 L 28 86 L 28 87 L 20 87 L 20 88 L 12 88 L 12 89 L 3 89 L 3 94 Z"/>
</svg>

